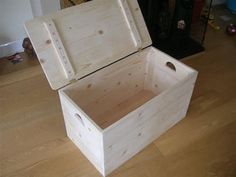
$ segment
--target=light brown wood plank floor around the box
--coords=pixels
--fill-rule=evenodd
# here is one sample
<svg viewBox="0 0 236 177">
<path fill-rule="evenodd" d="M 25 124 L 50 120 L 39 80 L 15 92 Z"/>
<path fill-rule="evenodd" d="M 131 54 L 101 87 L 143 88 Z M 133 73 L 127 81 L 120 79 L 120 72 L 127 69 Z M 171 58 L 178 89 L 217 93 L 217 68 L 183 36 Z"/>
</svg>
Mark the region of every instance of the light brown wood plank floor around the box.
<svg viewBox="0 0 236 177">
<path fill-rule="evenodd" d="M 209 29 L 205 45 L 184 61 L 199 71 L 187 118 L 109 177 L 236 176 L 235 38 Z M 59 97 L 40 67 L 0 83 L 1 177 L 100 177 L 66 138 Z"/>
</svg>

